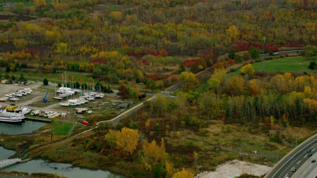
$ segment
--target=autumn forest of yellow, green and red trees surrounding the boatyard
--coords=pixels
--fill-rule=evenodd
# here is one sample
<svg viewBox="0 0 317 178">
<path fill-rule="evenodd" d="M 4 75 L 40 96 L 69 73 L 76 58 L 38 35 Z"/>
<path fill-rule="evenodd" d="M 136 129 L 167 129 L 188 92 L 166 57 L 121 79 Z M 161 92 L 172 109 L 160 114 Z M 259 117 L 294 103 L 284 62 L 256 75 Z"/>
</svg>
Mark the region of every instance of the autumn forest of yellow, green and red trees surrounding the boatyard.
<svg viewBox="0 0 317 178">
<path fill-rule="evenodd" d="M 122 98 L 179 86 L 176 98 L 158 95 L 119 125 L 34 149 L 32 158 L 186 178 L 232 159 L 272 164 L 283 141 L 294 143 L 292 128 L 316 131 L 317 0 L 27 0 L 4 12 L 1 77 L 85 73 Z M 310 63 L 306 72 L 255 70 L 292 49 L 303 49 L 293 56 Z"/>
</svg>

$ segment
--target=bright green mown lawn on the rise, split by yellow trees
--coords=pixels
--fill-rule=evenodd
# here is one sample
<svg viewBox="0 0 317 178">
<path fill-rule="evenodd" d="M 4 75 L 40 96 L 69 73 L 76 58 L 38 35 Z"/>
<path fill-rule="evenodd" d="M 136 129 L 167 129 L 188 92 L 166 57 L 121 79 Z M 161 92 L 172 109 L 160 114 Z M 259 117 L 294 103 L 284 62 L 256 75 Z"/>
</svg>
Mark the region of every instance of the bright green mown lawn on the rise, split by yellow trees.
<svg viewBox="0 0 317 178">
<path fill-rule="evenodd" d="M 307 72 L 317 74 L 316 70 L 308 69 L 311 62 L 311 58 L 306 58 L 302 56 L 298 57 L 285 57 L 279 59 L 267 60 L 264 62 L 253 63 L 255 71 L 270 71 L 270 72 Z M 235 75 L 240 75 L 240 70 L 242 67 L 238 68 L 234 72 L 230 72 L 226 77 L 232 77 Z"/>
</svg>

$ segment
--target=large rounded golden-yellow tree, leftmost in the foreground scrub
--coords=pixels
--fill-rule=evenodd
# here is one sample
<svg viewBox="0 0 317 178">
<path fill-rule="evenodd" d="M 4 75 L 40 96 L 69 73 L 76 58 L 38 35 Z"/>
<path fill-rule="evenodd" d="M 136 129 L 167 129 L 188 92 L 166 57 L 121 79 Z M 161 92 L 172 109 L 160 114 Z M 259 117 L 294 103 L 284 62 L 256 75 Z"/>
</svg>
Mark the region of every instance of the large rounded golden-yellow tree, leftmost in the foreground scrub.
<svg viewBox="0 0 317 178">
<path fill-rule="evenodd" d="M 123 128 L 121 131 L 117 131 L 116 145 L 124 153 L 128 153 L 131 157 L 132 153 L 137 149 L 139 142 L 139 130 L 133 130 L 129 128 Z"/>
</svg>

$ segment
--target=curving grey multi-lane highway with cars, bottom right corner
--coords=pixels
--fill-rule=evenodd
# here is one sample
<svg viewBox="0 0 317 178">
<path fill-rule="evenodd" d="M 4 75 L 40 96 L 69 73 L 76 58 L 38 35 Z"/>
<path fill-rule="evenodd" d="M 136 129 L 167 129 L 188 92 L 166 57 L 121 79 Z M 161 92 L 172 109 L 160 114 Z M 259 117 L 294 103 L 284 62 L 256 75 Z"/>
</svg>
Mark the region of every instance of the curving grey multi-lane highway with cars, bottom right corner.
<svg viewBox="0 0 317 178">
<path fill-rule="evenodd" d="M 309 149 L 312 151 L 307 152 Z M 264 178 L 298 178 L 294 176 L 295 173 L 301 172 L 304 169 L 306 170 L 306 168 L 302 167 L 302 165 L 305 164 L 306 161 L 311 160 L 311 157 L 309 156 L 310 153 L 312 153 L 312 156 L 317 156 L 316 152 L 317 134 L 290 151 L 271 169 L 269 173 L 265 175 Z M 292 172 L 292 169 L 294 168 L 296 168 L 296 172 Z"/>
</svg>

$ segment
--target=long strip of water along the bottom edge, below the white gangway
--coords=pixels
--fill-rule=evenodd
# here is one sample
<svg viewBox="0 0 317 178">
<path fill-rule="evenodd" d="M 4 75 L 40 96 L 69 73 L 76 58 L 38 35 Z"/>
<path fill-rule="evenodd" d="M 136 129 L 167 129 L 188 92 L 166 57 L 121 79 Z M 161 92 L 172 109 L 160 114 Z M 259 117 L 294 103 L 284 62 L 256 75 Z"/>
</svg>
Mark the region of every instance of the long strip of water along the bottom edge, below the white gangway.
<svg viewBox="0 0 317 178">
<path fill-rule="evenodd" d="M 109 171 L 83 169 L 71 167 L 71 164 L 65 163 L 48 163 L 45 160 L 36 159 L 26 163 L 19 163 L 2 171 L 18 171 L 23 173 L 51 173 L 67 178 L 125 178 L 124 176 L 113 174 Z"/>
</svg>

